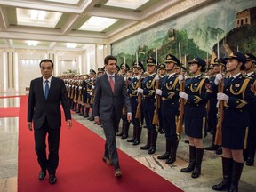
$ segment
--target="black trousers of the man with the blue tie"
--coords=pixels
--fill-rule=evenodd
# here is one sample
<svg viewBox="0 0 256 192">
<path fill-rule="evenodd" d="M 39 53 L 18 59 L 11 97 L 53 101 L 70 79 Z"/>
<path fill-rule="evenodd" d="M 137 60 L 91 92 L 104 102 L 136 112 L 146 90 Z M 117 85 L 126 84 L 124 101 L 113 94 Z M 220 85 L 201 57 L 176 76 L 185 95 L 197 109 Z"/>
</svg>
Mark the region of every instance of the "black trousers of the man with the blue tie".
<svg viewBox="0 0 256 192">
<path fill-rule="evenodd" d="M 48 133 L 49 156 L 46 156 L 45 139 Z M 55 174 L 59 164 L 60 128 L 50 128 L 47 119 L 40 129 L 34 130 L 37 161 L 41 169 L 47 169 L 50 174 Z"/>
</svg>

